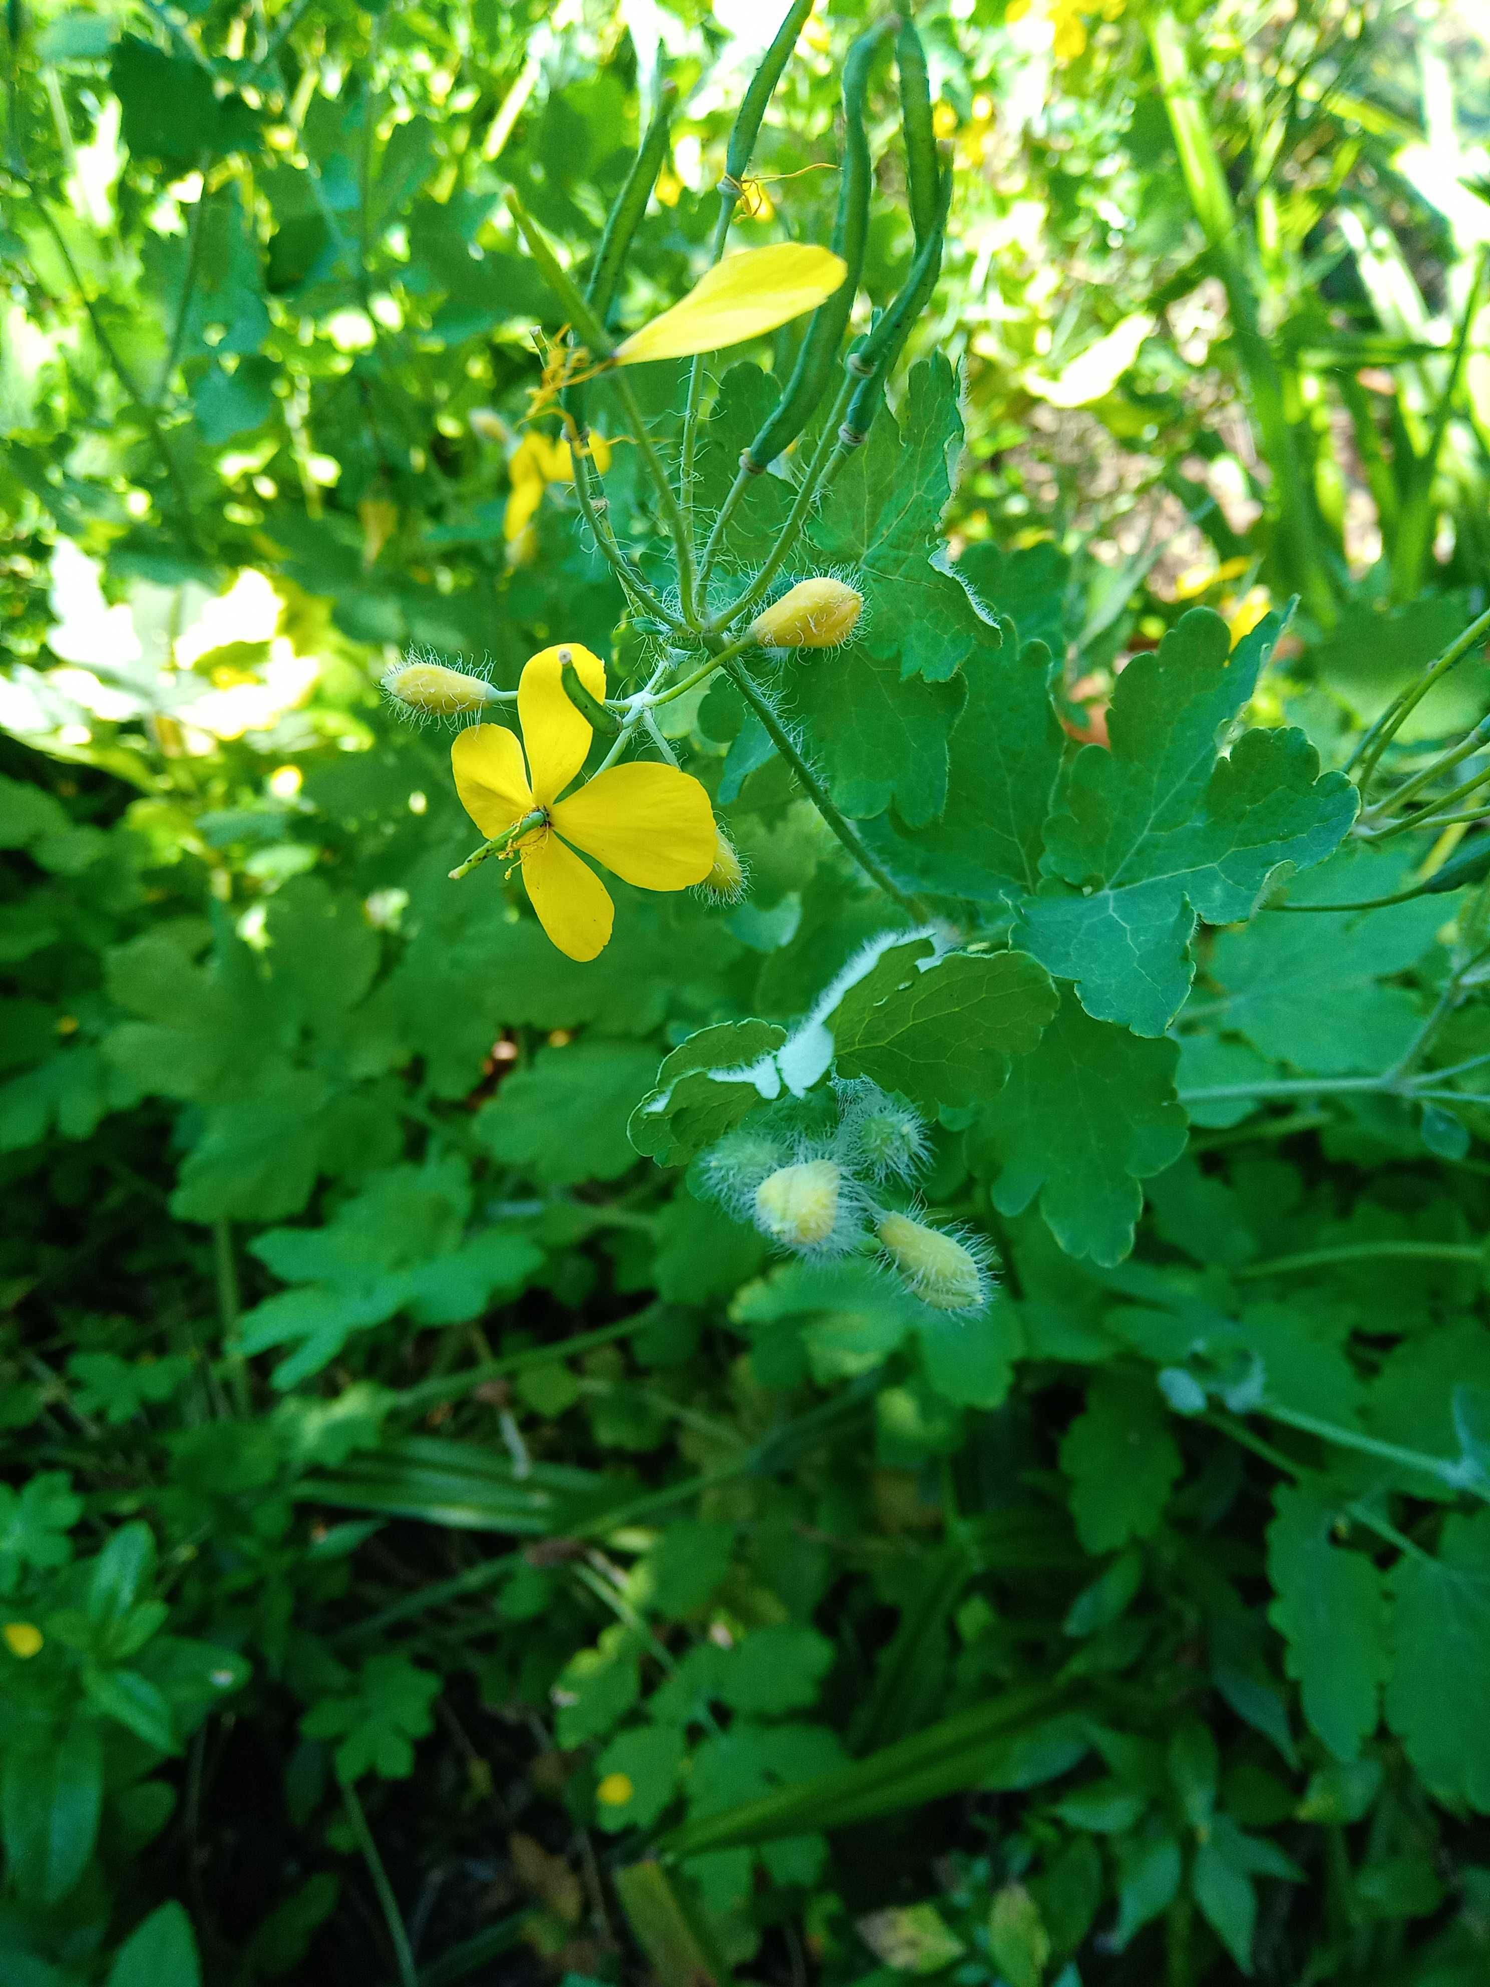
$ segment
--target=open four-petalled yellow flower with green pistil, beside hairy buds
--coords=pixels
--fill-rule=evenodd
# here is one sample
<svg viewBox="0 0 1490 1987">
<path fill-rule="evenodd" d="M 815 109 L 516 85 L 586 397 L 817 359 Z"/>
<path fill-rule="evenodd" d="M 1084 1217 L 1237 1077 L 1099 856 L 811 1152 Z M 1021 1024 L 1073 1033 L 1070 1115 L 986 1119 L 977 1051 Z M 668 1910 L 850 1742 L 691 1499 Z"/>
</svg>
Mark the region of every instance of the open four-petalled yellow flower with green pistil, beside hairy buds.
<svg viewBox="0 0 1490 1987">
<path fill-rule="evenodd" d="M 588 719 L 564 695 L 564 662 L 574 664 L 592 697 L 604 699 L 606 666 L 598 656 L 578 642 L 544 648 L 522 670 L 517 691 L 522 743 L 505 725 L 471 725 L 451 747 L 451 767 L 461 805 L 489 841 L 542 815 L 517 841 L 522 882 L 558 950 L 592 960 L 610 942 L 616 906 L 574 848 L 642 890 L 687 890 L 713 868 L 719 837 L 709 795 L 675 765 L 614 765 L 560 799 L 592 737 Z"/>
</svg>

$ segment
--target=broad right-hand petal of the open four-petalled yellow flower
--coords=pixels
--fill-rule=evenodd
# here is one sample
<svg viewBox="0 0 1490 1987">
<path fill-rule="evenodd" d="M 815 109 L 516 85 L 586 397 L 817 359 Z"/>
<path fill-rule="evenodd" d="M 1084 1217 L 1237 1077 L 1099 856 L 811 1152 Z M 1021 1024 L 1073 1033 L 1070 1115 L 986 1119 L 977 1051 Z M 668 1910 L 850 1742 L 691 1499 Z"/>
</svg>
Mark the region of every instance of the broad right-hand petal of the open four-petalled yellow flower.
<svg viewBox="0 0 1490 1987">
<path fill-rule="evenodd" d="M 673 765 L 612 765 L 552 811 L 560 835 L 642 890 L 687 890 L 713 868 L 709 795 Z"/>
</svg>

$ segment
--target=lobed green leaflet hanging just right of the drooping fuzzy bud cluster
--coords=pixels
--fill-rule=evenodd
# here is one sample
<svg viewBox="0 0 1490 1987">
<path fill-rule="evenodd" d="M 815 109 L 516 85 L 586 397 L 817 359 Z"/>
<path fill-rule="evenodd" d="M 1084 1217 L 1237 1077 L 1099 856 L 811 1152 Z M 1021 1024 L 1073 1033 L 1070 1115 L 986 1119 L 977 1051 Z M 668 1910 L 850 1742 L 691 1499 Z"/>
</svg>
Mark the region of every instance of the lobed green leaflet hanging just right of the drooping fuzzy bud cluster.
<svg viewBox="0 0 1490 1987">
<path fill-rule="evenodd" d="M 1093 1021 L 1065 990 L 1039 1045 L 985 1105 L 968 1150 L 1001 1214 L 1039 1210 L 1071 1256 L 1120 1262 L 1142 1212 L 1140 1180 L 1184 1150 L 1176 1047 Z"/>
</svg>

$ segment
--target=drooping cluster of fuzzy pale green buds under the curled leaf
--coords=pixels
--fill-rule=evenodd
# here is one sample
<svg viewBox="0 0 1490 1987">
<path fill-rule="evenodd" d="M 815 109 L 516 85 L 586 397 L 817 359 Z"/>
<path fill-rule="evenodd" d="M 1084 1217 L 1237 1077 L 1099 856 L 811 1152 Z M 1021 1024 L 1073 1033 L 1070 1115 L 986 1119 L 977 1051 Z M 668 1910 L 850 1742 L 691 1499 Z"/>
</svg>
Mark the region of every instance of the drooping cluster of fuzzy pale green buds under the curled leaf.
<svg viewBox="0 0 1490 1987">
<path fill-rule="evenodd" d="M 868 1079 L 832 1093 L 828 1129 L 803 1131 L 787 1107 L 721 1139 L 699 1162 L 707 1192 L 795 1256 L 874 1252 L 922 1303 L 981 1311 L 993 1288 L 987 1244 L 890 1204 L 926 1164 L 926 1125 Z"/>
</svg>

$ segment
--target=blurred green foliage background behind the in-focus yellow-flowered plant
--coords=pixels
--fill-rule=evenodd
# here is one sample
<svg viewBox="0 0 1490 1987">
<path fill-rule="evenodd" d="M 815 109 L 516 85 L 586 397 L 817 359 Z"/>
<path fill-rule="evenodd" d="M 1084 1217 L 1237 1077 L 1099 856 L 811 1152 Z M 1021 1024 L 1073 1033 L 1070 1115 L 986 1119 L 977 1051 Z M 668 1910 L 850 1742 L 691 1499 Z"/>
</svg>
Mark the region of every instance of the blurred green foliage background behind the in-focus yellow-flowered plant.
<svg viewBox="0 0 1490 1987">
<path fill-rule="evenodd" d="M 860 18 L 809 22 L 741 242 L 826 236 Z M 958 163 L 912 346 L 962 366 L 954 552 L 1063 644 L 1069 729 L 1097 741 L 1184 608 L 1242 634 L 1299 594 L 1252 715 L 1339 757 L 1490 584 L 1482 20 L 956 0 L 918 22 Z M 515 894 L 445 882 L 471 839 L 447 739 L 385 711 L 387 662 L 511 686 L 544 642 L 628 642 L 564 455 L 522 425 L 560 316 L 503 193 L 588 252 L 664 54 L 642 322 L 697 268 L 773 30 L 739 0 L 10 8 L 20 1987 L 1484 1979 L 1486 1520 L 1448 1516 L 1434 1560 L 1442 1478 L 1401 1454 L 1325 1474 L 1307 1441 L 1279 1462 L 1134 1383 L 1184 1365 L 1208 1278 L 1325 1246 L 1216 1357 L 1291 1347 L 1299 1415 L 1440 1458 L 1468 1441 L 1448 1397 L 1490 1379 L 1490 1210 L 1464 1123 L 1200 1107 L 1107 1278 L 1037 1216 L 999 1222 L 952 1127 L 934 1198 L 1011 1276 L 964 1359 L 878 1288 L 761 1276 L 759 1238 L 626 1139 L 660 1053 L 805 1011 L 882 922 L 771 767 L 731 817 L 751 900 L 626 894 L 592 968 Z M 884 302 L 910 248 L 888 89 L 874 117 Z M 626 503 L 636 449 L 608 439 Z M 1488 689 L 1470 658 L 1415 735 Z M 1250 990 L 1250 1019 L 1198 1081 L 1407 1053 L 1438 930 L 1426 900 L 1349 958 L 1226 938 L 1202 995 Z M 483 1532 L 519 1544 L 493 1558 Z M 1444 1564 L 1446 1594 L 1422 1572 Z M 922 1757 L 888 1808 L 819 1790 L 697 1834 L 1073 1645 L 1120 1715 L 1039 1703 L 1017 1739 L 964 1735 L 981 1794 L 942 1800 Z M 636 1856 L 685 1762 L 675 1890 Z"/>
</svg>

